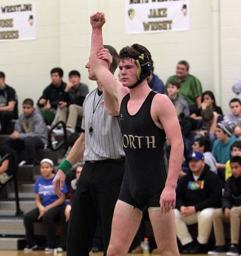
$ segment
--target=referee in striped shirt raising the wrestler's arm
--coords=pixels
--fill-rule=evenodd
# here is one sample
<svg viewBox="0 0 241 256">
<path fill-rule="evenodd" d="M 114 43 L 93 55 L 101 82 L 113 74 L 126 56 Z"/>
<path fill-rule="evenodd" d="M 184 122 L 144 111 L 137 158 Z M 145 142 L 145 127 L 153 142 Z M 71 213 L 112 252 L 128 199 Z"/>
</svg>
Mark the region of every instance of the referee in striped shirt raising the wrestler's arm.
<svg viewBox="0 0 241 256">
<path fill-rule="evenodd" d="M 118 54 L 111 46 L 104 46 L 111 56 L 104 57 L 112 63 L 114 74 L 118 66 Z M 107 50 L 106 50 L 107 51 Z M 106 52 L 108 53 L 108 51 Z M 89 79 L 96 80 L 90 61 L 86 64 Z M 125 153 L 121 145 L 118 118 L 110 116 L 103 101 L 102 86 L 86 96 L 83 104 L 82 133 L 70 154 L 59 166 L 53 180 L 54 192 L 60 196 L 69 169 L 85 160 L 72 202 L 68 227 L 67 256 L 86 256 L 92 247 L 97 220 L 100 220 L 104 242 L 104 255 L 109 244 L 115 203 L 121 188 L 125 167 Z M 108 102 L 106 102 L 108 104 Z M 112 106 L 118 108 L 118 106 Z M 59 186 L 60 185 L 60 186 Z"/>
</svg>

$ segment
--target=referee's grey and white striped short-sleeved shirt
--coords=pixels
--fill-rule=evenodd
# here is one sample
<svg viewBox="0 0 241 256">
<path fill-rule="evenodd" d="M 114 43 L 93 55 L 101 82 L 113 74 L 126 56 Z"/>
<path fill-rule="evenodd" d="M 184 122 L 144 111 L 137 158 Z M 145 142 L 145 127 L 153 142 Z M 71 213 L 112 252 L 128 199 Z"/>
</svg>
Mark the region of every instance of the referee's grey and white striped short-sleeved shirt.
<svg viewBox="0 0 241 256">
<path fill-rule="evenodd" d="M 83 109 L 81 128 L 85 131 L 84 160 L 118 159 L 125 156 L 121 145 L 118 118 L 108 114 L 103 94 L 99 96 L 97 89 L 89 93 L 85 98 Z M 90 127 L 92 127 L 91 134 Z"/>
</svg>

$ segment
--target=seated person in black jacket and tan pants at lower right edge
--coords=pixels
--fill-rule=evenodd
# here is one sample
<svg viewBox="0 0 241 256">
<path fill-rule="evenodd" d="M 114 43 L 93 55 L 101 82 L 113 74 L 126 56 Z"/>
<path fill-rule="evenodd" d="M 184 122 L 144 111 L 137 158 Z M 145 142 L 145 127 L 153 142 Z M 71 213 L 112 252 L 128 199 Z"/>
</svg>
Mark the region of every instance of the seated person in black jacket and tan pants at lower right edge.
<svg viewBox="0 0 241 256">
<path fill-rule="evenodd" d="M 230 223 L 231 245 L 226 255 L 239 255 L 238 242 L 241 221 L 241 157 L 233 156 L 230 160 L 232 176 L 224 185 L 222 207 L 215 209 L 213 227 L 216 247 L 209 251 L 209 255 L 225 253 L 225 236 L 223 222 Z"/>
</svg>

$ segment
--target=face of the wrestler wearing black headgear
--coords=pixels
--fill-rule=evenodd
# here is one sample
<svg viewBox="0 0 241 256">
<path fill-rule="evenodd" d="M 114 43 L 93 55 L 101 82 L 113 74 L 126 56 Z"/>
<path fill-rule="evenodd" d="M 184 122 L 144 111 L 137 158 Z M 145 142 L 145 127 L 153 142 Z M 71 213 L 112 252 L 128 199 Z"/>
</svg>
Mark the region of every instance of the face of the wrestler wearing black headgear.
<svg viewBox="0 0 241 256">
<path fill-rule="evenodd" d="M 132 58 L 119 61 L 119 77 L 124 87 L 133 86 L 137 82 L 137 65 Z"/>
</svg>

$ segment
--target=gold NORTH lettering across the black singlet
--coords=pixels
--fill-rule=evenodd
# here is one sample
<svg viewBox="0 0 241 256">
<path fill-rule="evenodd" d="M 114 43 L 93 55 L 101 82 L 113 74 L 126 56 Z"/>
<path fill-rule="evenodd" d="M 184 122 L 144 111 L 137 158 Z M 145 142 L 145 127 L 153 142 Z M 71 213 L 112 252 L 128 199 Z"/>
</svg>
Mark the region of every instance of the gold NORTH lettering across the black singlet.
<svg viewBox="0 0 241 256">
<path fill-rule="evenodd" d="M 137 136 L 122 134 L 122 146 L 124 148 L 155 148 L 155 136 Z"/>
</svg>

